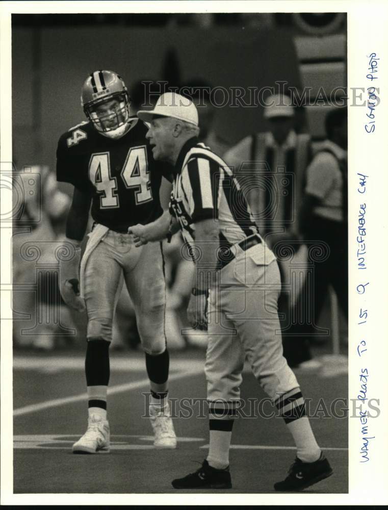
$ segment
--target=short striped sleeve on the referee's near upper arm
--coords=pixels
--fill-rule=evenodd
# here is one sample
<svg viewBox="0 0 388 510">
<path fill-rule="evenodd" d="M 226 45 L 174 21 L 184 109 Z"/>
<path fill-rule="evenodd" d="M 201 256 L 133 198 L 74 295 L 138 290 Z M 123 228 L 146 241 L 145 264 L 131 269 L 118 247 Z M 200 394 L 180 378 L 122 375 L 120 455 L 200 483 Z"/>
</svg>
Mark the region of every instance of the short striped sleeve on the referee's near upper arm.
<svg viewBox="0 0 388 510">
<path fill-rule="evenodd" d="M 218 218 L 219 179 L 218 163 L 208 158 L 193 158 L 183 169 L 182 186 L 194 223 Z"/>
</svg>

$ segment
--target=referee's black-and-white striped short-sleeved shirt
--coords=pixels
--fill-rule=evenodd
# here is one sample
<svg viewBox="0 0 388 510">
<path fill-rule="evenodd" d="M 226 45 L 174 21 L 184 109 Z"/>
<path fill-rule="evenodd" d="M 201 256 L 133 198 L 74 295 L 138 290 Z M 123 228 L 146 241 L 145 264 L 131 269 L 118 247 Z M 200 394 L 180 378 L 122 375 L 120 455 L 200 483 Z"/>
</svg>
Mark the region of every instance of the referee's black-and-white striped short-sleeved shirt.
<svg viewBox="0 0 388 510">
<path fill-rule="evenodd" d="M 195 223 L 215 219 L 222 247 L 258 234 L 240 185 L 226 163 L 196 137 L 180 150 L 170 200 L 186 242 L 195 240 Z"/>
</svg>

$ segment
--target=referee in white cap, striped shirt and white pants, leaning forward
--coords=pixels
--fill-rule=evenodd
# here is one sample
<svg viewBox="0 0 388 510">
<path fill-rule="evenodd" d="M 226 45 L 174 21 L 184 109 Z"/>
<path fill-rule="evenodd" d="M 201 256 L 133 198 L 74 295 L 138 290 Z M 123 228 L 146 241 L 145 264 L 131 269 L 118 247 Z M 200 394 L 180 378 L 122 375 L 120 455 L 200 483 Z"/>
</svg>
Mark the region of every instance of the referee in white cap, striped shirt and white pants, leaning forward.
<svg viewBox="0 0 388 510">
<path fill-rule="evenodd" d="M 305 489 L 330 476 L 332 469 L 315 440 L 298 381 L 282 355 L 281 336 L 276 335 L 280 276 L 275 256 L 258 234 L 230 169 L 198 142 L 194 104 L 166 93 L 152 111 L 140 111 L 138 116 L 149 123 L 146 137 L 154 158 L 173 164 L 175 171 L 170 212 L 154 223 L 130 227 L 129 232 L 140 246 L 180 228 L 197 267 L 188 316 L 195 325 L 208 325 L 209 454 L 195 473 L 173 480 L 172 486 L 231 488 L 229 446 L 246 357 L 297 448 L 287 477 L 274 488 Z"/>
</svg>

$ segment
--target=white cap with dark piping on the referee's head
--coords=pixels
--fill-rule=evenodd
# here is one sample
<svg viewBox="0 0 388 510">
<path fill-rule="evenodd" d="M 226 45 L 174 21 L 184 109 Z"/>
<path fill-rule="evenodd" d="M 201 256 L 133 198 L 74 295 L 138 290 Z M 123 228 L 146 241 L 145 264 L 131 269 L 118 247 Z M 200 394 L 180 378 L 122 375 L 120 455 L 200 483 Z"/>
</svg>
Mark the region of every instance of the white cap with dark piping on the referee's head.
<svg viewBox="0 0 388 510">
<path fill-rule="evenodd" d="M 153 110 L 140 110 L 137 115 L 144 122 L 151 122 L 154 115 L 162 115 L 198 125 L 198 111 L 193 101 L 175 92 L 162 94 Z"/>
</svg>

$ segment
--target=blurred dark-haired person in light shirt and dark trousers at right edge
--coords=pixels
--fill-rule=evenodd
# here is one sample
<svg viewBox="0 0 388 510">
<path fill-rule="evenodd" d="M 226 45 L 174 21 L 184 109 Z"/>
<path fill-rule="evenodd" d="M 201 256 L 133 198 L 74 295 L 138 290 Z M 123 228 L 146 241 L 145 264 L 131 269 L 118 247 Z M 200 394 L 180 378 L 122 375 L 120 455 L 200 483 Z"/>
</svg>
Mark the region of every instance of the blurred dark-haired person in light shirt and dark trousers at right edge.
<svg viewBox="0 0 388 510">
<path fill-rule="evenodd" d="M 327 140 L 316 145 L 313 161 L 307 168 L 306 187 L 300 207 L 300 229 L 313 245 L 323 241 L 328 257 L 314 262 L 313 285 L 306 279 L 295 305 L 298 317 L 294 337 L 287 337 L 284 352 L 290 366 L 311 360 L 309 345 L 322 311 L 328 286 L 337 294 L 348 318 L 348 229 L 347 229 L 347 109 L 331 110 L 325 119 Z M 301 310 L 307 315 L 298 316 Z M 307 320 L 307 317 L 309 320 Z"/>
</svg>

